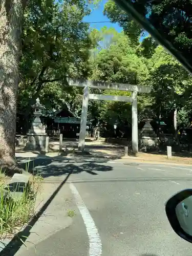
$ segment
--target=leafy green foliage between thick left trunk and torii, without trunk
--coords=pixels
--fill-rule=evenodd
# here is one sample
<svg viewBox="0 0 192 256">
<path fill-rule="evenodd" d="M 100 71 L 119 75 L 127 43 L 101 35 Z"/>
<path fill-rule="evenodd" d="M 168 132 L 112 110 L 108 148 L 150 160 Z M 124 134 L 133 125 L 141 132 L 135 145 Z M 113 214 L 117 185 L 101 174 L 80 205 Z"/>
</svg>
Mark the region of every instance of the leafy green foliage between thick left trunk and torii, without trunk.
<svg viewBox="0 0 192 256">
<path fill-rule="evenodd" d="M 22 38 L 19 112 L 29 111 L 39 95 L 46 106 L 58 108 L 73 91 L 66 88 L 66 76 L 87 76 L 94 41 L 82 19 L 89 13 L 84 0 L 29 2 Z"/>
</svg>

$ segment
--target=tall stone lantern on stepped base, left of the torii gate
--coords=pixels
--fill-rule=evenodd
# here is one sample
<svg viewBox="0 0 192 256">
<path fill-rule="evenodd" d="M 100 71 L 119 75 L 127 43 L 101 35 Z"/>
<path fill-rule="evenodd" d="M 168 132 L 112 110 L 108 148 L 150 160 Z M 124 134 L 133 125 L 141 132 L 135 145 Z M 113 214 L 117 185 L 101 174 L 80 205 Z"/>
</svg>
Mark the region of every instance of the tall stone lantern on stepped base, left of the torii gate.
<svg viewBox="0 0 192 256">
<path fill-rule="evenodd" d="M 36 104 L 33 105 L 32 108 L 34 109 L 35 119 L 32 122 L 31 129 L 27 133 L 28 141 L 25 150 L 46 152 L 47 133 L 40 120 L 41 110 L 44 106 L 40 104 L 39 99 L 37 98 Z"/>
</svg>

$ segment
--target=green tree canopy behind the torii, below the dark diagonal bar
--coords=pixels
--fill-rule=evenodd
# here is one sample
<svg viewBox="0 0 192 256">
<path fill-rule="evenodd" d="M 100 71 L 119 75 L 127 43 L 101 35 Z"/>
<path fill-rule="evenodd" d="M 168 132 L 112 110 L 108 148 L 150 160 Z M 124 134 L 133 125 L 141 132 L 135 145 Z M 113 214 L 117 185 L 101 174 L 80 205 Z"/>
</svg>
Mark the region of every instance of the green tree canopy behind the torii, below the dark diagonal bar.
<svg viewBox="0 0 192 256">
<path fill-rule="evenodd" d="M 109 2 L 108 4 L 114 6 L 114 3 Z M 115 29 L 106 27 L 100 31 L 88 30 L 88 25 L 82 23 L 83 16 L 90 11 L 86 5 L 81 6 L 83 10 L 81 16 L 79 16 L 79 9 L 76 12 L 76 19 L 73 15 L 75 25 L 74 28 L 69 29 L 69 12 L 67 14 L 60 13 L 58 10 L 61 7 L 63 7 L 61 4 L 54 5 L 55 18 L 50 23 L 51 32 L 48 33 L 46 29 L 44 31 L 43 24 L 48 23 L 49 12 L 46 12 L 44 19 L 39 19 L 41 22 L 39 29 L 37 24 L 34 25 L 29 18 L 32 14 L 34 17 L 34 13 L 31 14 L 29 8 L 32 8 L 33 11 L 36 9 L 33 9 L 33 6 L 28 6 L 25 18 L 33 26 L 30 27 L 26 23 L 26 27 L 24 27 L 23 54 L 20 61 L 22 81 L 19 86 L 19 109 L 26 111 L 29 99 L 40 95 L 42 103 L 47 108 L 58 109 L 65 103 L 70 110 L 80 115 L 82 90 L 67 87 L 65 81 L 66 76 L 74 76 L 96 81 L 150 85 L 153 88 L 152 93 L 138 97 L 139 121 L 145 117 L 145 109 L 150 107 L 151 117 L 164 120 L 170 127 L 173 126 L 173 118 L 170 118 L 170 115 L 175 109 L 178 110 L 178 123 L 184 122 L 185 125 L 189 123 L 190 75 L 177 60 L 161 46 L 158 46 L 151 36 L 140 41 L 141 29 L 138 34 L 136 30 L 133 30 L 135 34 L 130 34 L 129 30 L 125 29 L 118 33 Z M 56 30 L 58 20 L 62 20 L 61 28 L 64 32 Z M 117 20 L 115 16 L 114 20 Z M 81 24 L 80 27 L 79 24 Z M 31 39 L 27 37 L 26 31 L 29 28 L 32 32 L 28 33 L 34 33 L 33 36 L 36 34 L 36 38 L 38 37 L 35 44 L 32 44 L 33 36 Z M 70 44 L 66 39 L 68 37 Z M 52 48 L 54 50 L 51 56 L 50 49 Z M 27 49 L 31 50 L 27 51 Z M 42 69 L 43 73 L 41 73 Z M 39 76 L 40 74 L 42 77 Z M 40 90 L 37 90 L 38 88 Z M 92 91 L 100 93 L 96 89 L 92 89 Z M 104 91 L 103 93 L 130 95 L 129 92 L 117 91 Z M 182 118 L 182 115 L 185 115 L 185 118 Z M 113 124 L 118 123 L 120 134 L 123 136 L 131 126 L 131 104 L 90 101 L 88 116 L 94 119 L 94 124 L 108 123 L 111 130 L 113 130 Z"/>
</svg>

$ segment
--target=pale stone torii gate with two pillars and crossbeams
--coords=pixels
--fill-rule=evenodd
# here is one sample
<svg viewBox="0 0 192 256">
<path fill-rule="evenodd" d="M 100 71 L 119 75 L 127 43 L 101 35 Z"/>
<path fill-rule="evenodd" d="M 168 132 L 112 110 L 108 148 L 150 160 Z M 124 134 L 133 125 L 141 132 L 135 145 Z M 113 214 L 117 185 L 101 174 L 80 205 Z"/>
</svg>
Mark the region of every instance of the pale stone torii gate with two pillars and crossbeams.
<svg viewBox="0 0 192 256">
<path fill-rule="evenodd" d="M 150 93 L 152 88 L 148 86 L 136 86 L 132 84 L 114 83 L 114 82 L 97 82 L 93 80 L 73 79 L 67 78 L 69 86 L 84 87 L 80 133 L 78 149 L 84 151 L 84 144 L 86 139 L 86 126 L 88 115 L 89 99 L 91 100 L 113 100 L 132 102 L 132 150 L 134 153 L 138 152 L 138 117 L 137 117 L 137 93 Z M 104 94 L 91 94 L 89 88 L 96 88 L 101 90 L 117 90 L 117 91 L 130 91 L 132 96 L 116 96 Z"/>
</svg>

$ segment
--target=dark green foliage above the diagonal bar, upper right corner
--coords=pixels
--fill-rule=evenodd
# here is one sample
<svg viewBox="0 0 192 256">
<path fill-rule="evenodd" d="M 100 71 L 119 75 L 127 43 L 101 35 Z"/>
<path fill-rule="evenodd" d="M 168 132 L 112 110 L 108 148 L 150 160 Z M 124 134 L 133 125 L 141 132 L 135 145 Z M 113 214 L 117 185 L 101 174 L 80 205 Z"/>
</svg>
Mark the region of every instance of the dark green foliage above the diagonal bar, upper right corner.
<svg viewBox="0 0 192 256">
<path fill-rule="evenodd" d="M 139 1 L 140 3 L 143 1 Z M 147 9 L 145 5 L 145 9 Z M 158 3 L 151 2 L 150 22 L 162 36 L 172 42 L 174 47 L 190 60 L 192 46 L 191 14 L 192 1 L 171 0 Z"/>
</svg>

